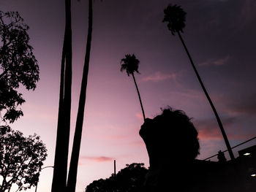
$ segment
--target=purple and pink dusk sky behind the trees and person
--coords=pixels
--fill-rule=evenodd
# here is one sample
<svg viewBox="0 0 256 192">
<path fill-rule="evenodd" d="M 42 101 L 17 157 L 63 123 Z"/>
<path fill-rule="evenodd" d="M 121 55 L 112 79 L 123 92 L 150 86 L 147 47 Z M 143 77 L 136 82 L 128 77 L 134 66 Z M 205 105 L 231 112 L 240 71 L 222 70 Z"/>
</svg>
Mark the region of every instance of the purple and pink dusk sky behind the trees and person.
<svg viewBox="0 0 256 192">
<path fill-rule="evenodd" d="M 159 115 L 160 108 L 168 105 L 184 110 L 199 132 L 198 159 L 226 150 L 214 112 L 178 36 L 173 36 L 166 23 L 162 23 L 163 9 L 170 3 L 181 5 L 187 12 L 182 37 L 219 112 L 230 145 L 238 145 L 256 135 L 256 1 L 94 1 L 78 192 L 84 191 L 93 180 L 110 177 L 114 160 L 117 171 L 132 163 L 145 163 L 148 167 L 146 146 L 138 134 L 143 124 L 138 95 L 132 77 L 120 72 L 120 61 L 125 54 L 134 53 L 140 60 L 140 74 L 135 74 L 135 78 L 147 118 Z M 0 7 L 4 12 L 20 12 L 29 25 L 30 44 L 40 69 L 35 91 L 20 88 L 26 99 L 21 106 L 24 116 L 11 127 L 26 136 L 37 133 L 48 149 L 44 166 L 53 166 L 64 1 L 1 0 Z M 72 1 L 70 147 L 78 110 L 87 25 L 88 1 Z M 255 140 L 233 152 L 237 156 L 238 150 L 252 145 L 256 145 Z M 43 169 L 37 191 L 50 191 L 52 177 L 52 168 Z"/>
</svg>

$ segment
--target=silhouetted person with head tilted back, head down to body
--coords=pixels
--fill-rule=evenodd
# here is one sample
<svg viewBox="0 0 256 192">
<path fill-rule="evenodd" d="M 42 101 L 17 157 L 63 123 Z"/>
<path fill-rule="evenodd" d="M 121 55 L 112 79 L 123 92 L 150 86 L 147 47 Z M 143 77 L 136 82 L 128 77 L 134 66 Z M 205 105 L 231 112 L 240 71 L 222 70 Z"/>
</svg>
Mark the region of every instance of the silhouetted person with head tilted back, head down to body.
<svg viewBox="0 0 256 192">
<path fill-rule="evenodd" d="M 197 130 L 181 110 L 168 107 L 140 128 L 149 169 L 143 191 L 189 191 L 187 174 L 199 154 Z"/>
</svg>

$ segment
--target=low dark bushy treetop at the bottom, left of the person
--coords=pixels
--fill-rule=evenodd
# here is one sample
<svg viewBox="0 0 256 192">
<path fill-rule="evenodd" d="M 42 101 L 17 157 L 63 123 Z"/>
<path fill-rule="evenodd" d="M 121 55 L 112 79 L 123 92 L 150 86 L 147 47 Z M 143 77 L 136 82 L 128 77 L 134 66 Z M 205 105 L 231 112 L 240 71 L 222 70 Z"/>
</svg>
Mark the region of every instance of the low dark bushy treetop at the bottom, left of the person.
<svg viewBox="0 0 256 192">
<path fill-rule="evenodd" d="M 118 174 L 112 174 L 111 177 L 103 180 L 94 180 L 86 187 L 86 192 L 139 192 L 142 191 L 142 186 L 148 169 L 144 164 L 127 164 L 127 167 L 121 169 Z"/>
</svg>

